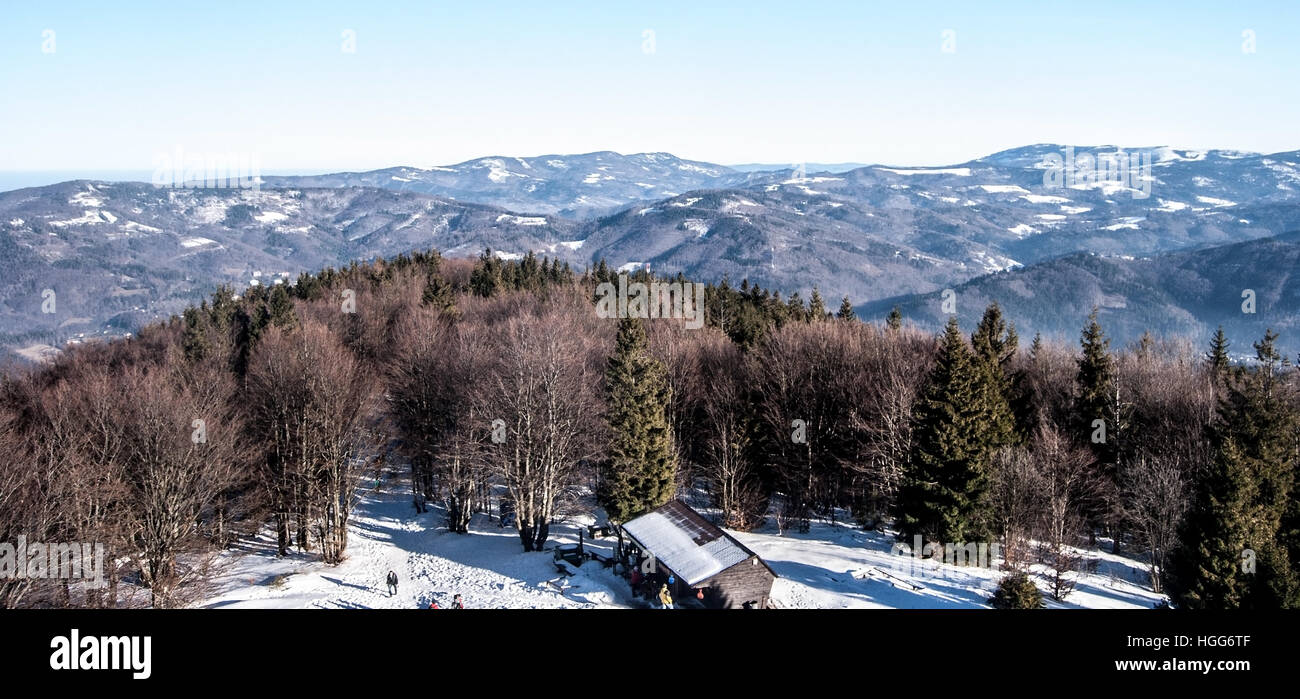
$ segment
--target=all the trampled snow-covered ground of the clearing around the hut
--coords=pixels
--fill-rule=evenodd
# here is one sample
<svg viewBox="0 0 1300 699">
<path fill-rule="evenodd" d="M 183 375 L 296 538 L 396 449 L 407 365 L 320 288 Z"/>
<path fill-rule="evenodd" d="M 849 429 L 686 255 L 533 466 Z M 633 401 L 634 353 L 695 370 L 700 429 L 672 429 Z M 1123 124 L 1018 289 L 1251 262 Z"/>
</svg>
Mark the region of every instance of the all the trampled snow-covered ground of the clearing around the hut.
<svg viewBox="0 0 1300 699">
<path fill-rule="evenodd" d="M 373 486 L 369 482 L 368 486 Z M 701 503 L 693 503 L 701 504 Z M 592 517 L 558 522 L 547 548 L 576 543 Z M 893 552 L 894 538 L 844 522 L 814 521 L 807 533 L 780 534 L 775 524 L 732 531 L 776 572 L 777 608 L 985 608 L 1001 572 L 919 561 Z M 608 555 L 612 540 L 586 540 Z M 1063 603 L 1046 594 L 1044 569 L 1036 581 L 1049 608 L 1150 608 L 1164 599 L 1150 590 L 1141 561 L 1080 551 L 1095 572 L 1079 578 Z M 213 587 L 195 607 L 207 608 L 447 608 L 463 595 L 467 608 L 638 608 L 628 583 L 588 561 L 564 576 L 550 551 L 523 552 L 519 537 L 494 517 L 476 516 L 471 534 L 451 534 L 443 513 L 416 515 L 404 479 L 364 489 L 350 525 L 347 560 L 325 565 L 312 553 L 277 557 L 265 531 L 217 560 Z M 398 574 L 389 596 L 384 578 Z"/>
</svg>

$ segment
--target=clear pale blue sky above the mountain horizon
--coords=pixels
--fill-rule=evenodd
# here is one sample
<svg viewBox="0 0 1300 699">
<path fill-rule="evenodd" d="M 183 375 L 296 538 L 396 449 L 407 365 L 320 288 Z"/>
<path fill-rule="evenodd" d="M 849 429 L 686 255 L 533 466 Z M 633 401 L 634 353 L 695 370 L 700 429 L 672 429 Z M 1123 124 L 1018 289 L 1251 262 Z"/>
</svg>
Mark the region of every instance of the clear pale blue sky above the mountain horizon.
<svg viewBox="0 0 1300 699">
<path fill-rule="evenodd" d="M 0 6 L 0 170 L 144 172 L 176 147 L 255 153 L 263 172 L 598 149 L 898 165 L 1036 142 L 1271 152 L 1300 148 L 1296 36 L 1296 0 L 16 0 Z"/>
</svg>

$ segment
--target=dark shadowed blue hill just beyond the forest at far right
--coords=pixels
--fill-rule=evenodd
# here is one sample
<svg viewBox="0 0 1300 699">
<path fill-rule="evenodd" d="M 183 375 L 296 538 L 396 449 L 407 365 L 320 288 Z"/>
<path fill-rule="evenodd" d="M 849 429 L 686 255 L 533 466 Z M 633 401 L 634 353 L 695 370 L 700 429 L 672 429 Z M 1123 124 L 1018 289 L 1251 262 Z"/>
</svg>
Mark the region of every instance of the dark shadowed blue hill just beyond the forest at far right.
<svg viewBox="0 0 1300 699">
<path fill-rule="evenodd" d="M 1075 253 L 1023 269 L 980 277 L 953 287 L 957 316 L 971 329 L 991 301 L 1013 318 L 1024 342 L 1034 333 L 1076 342 L 1093 305 L 1115 346 L 1149 330 L 1197 344 L 1222 325 L 1235 355 L 1271 327 L 1291 360 L 1300 352 L 1300 231 L 1149 259 Z M 1243 312 L 1243 291 L 1256 312 Z M 862 314 L 883 318 L 896 303 L 926 327 L 946 321 L 942 294 L 866 304 Z"/>
</svg>

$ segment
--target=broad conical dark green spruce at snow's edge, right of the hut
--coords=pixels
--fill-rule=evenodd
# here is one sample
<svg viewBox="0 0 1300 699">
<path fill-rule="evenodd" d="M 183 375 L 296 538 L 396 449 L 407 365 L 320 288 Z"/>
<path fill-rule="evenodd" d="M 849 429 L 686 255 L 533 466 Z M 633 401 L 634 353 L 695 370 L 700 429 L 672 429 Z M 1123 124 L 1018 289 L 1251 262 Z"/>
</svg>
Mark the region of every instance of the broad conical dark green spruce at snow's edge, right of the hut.
<svg viewBox="0 0 1300 699">
<path fill-rule="evenodd" d="M 909 543 L 918 534 L 927 543 L 989 540 L 983 500 L 991 452 L 975 374 L 976 359 L 952 317 L 913 412 L 911 459 L 896 504 Z"/>
</svg>

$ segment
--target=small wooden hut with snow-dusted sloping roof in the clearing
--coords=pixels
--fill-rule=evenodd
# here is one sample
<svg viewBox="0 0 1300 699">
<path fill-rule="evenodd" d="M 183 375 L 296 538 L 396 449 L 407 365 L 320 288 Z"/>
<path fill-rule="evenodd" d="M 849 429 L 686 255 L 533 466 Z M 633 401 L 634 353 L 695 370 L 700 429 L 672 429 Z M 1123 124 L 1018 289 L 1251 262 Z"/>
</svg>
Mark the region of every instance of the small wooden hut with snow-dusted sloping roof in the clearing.
<svg viewBox="0 0 1300 699">
<path fill-rule="evenodd" d="M 776 573 L 685 503 L 673 500 L 653 509 L 624 524 L 623 533 L 641 551 L 641 561 L 653 556 L 655 590 L 672 577 L 672 596 L 679 602 L 698 599 L 703 591 L 705 607 L 767 607 Z"/>
</svg>

